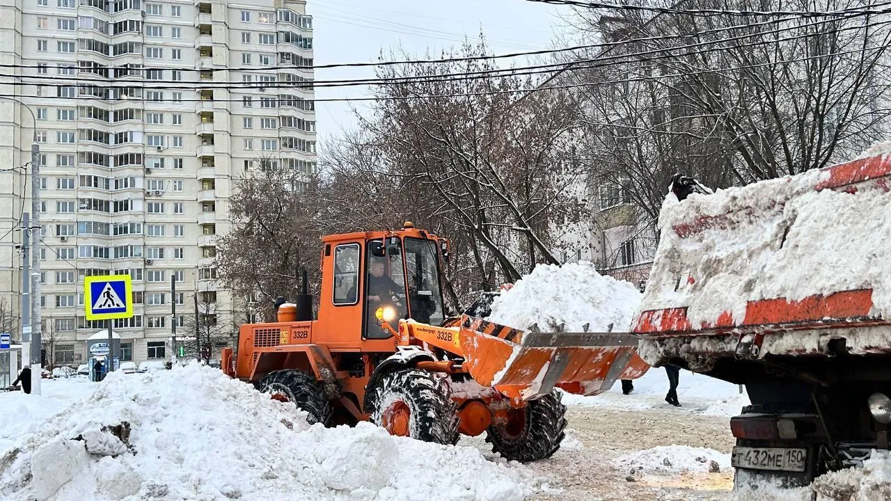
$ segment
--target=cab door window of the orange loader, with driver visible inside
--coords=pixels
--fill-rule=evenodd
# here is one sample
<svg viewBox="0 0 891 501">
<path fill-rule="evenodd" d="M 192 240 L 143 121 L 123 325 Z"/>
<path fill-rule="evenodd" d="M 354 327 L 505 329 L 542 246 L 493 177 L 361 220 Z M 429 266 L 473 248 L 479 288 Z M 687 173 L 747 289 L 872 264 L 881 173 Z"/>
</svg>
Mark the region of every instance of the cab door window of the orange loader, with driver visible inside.
<svg viewBox="0 0 891 501">
<path fill-rule="evenodd" d="M 365 253 L 365 338 L 387 339 L 374 312 L 378 308 L 393 308 L 396 319 L 408 317 L 405 306 L 405 266 L 402 241 L 398 237 L 371 240 Z M 390 323 L 397 327 L 397 320 Z"/>
</svg>

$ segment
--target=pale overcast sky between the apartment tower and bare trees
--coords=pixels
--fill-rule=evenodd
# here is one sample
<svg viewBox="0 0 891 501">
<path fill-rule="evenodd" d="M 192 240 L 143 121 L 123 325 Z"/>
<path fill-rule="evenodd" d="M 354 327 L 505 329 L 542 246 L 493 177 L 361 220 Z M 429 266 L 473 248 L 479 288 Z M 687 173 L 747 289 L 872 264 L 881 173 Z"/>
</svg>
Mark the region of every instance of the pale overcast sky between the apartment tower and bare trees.
<svg viewBox="0 0 891 501">
<path fill-rule="evenodd" d="M 373 62 L 381 48 L 403 47 L 425 57 L 477 38 L 494 53 L 550 48 L 567 7 L 525 0 L 308 0 L 315 64 Z M 437 57 L 437 55 L 434 55 Z M 517 64 L 521 64 L 518 60 Z M 315 79 L 370 78 L 373 68 L 316 70 Z M 365 87 L 321 87 L 316 98 L 358 97 Z M 356 107 L 362 106 L 356 103 Z M 324 143 L 356 120 L 350 103 L 317 103 L 316 130 Z"/>
</svg>

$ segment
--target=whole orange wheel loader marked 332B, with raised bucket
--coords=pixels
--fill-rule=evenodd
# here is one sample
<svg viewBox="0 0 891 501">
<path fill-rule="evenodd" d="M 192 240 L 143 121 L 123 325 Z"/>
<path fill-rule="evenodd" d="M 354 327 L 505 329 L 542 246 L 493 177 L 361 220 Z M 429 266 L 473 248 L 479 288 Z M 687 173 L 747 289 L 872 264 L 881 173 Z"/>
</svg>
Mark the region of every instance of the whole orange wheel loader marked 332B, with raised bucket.
<svg viewBox="0 0 891 501">
<path fill-rule="evenodd" d="M 649 365 L 628 333 L 537 333 L 448 317 L 440 283 L 448 242 L 405 223 L 395 231 L 323 238 L 312 298 L 277 322 L 241 326 L 226 374 L 293 402 L 311 423 L 370 420 L 391 434 L 454 444 L 486 432 L 518 461 L 551 456 L 563 439 L 560 390 L 594 395 Z"/>
</svg>

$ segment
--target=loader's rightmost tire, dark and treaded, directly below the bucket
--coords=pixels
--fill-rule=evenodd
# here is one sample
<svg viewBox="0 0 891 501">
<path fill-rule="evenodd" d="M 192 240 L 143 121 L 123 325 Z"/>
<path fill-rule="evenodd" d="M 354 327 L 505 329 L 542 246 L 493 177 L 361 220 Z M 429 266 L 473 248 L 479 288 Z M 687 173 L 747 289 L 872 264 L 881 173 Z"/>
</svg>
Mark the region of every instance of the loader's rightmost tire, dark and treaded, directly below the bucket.
<svg viewBox="0 0 891 501">
<path fill-rule="evenodd" d="M 511 410 L 507 423 L 492 424 L 486 430 L 486 442 L 493 452 L 510 461 L 528 463 L 551 457 L 565 437 L 566 406 L 560 393 L 553 390 L 542 398 L 530 400 L 526 407 Z"/>
</svg>

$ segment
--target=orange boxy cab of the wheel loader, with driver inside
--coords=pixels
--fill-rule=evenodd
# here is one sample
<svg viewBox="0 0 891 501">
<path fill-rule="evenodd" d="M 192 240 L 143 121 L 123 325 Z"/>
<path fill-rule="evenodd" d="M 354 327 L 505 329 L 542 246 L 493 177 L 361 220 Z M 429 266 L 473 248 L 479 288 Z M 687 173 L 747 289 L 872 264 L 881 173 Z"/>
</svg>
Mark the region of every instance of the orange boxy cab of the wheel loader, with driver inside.
<svg viewBox="0 0 891 501">
<path fill-rule="evenodd" d="M 406 224 L 396 231 L 331 235 L 323 242 L 318 318 L 330 339 L 392 341 L 377 318 L 379 308 L 394 328 L 400 319 L 445 320 L 439 259 L 447 255 L 446 240 Z M 372 349 L 378 343 L 365 344 Z"/>
</svg>

